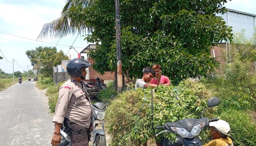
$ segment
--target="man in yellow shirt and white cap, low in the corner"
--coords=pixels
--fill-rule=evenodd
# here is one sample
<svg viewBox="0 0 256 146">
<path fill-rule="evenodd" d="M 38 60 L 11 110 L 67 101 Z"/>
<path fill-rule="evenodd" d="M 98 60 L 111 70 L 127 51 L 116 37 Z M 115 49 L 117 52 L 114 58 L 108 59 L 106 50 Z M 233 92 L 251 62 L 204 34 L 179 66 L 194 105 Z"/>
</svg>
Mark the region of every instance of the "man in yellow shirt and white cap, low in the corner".
<svg viewBox="0 0 256 146">
<path fill-rule="evenodd" d="M 203 146 L 234 146 L 230 137 L 229 123 L 224 120 L 210 122 L 212 140 Z"/>
</svg>

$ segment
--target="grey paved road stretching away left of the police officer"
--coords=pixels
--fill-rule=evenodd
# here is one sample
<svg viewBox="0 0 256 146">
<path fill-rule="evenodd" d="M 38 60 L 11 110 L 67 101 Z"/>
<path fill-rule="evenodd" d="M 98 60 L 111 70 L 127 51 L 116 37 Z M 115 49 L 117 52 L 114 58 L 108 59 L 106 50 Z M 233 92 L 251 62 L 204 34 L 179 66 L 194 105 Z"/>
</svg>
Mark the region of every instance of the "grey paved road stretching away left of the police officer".
<svg viewBox="0 0 256 146">
<path fill-rule="evenodd" d="M 24 81 L 0 92 L 0 145 L 50 146 L 54 124 L 45 91 Z"/>
</svg>

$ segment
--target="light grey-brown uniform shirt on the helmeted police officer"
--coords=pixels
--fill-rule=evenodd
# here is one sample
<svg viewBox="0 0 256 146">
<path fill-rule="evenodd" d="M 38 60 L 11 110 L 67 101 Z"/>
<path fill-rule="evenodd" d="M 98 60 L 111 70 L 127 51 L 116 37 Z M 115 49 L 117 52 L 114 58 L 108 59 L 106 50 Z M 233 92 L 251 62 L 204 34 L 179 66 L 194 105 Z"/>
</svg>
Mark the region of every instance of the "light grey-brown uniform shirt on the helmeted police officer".
<svg viewBox="0 0 256 146">
<path fill-rule="evenodd" d="M 52 122 L 63 123 L 64 118 L 89 128 L 91 124 L 92 106 L 85 88 L 72 77 L 59 90 Z"/>
</svg>

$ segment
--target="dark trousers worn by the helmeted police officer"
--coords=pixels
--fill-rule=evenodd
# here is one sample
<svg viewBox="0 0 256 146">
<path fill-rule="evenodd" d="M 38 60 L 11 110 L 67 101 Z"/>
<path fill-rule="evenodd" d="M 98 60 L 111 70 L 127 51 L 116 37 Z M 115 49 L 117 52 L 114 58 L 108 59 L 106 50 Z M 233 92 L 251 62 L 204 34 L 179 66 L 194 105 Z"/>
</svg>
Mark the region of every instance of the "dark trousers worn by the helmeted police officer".
<svg viewBox="0 0 256 146">
<path fill-rule="evenodd" d="M 90 129 L 76 123 L 70 123 L 70 129 L 66 128 L 71 140 L 71 146 L 89 146 Z M 67 126 L 67 123 L 64 126 Z"/>
</svg>

